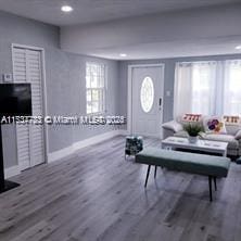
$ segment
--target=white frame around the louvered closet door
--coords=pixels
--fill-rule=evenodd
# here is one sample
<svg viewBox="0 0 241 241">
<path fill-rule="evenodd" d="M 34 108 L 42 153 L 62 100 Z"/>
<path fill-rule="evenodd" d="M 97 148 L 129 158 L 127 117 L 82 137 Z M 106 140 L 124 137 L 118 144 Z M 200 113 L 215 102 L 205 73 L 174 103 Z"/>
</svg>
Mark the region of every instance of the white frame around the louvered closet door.
<svg viewBox="0 0 241 241">
<path fill-rule="evenodd" d="M 22 49 L 29 49 L 29 50 L 36 50 L 41 52 L 41 76 L 42 76 L 42 110 L 43 110 L 43 117 L 47 116 L 48 110 L 47 110 L 47 87 L 46 87 L 46 51 L 43 48 L 39 47 L 34 47 L 34 46 L 25 46 L 25 45 L 18 45 L 18 43 L 12 43 L 12 73 L 13 73 L 13 65 L 14 65 L 14 60 L 13 60 L 13 48 L 22 48 Z M 13 78 L 14 78 L 14 73 L 13 73 Z M 13 79 L 14 83 L 14 79 Z M 17 141 L 17 139 L 16 139 Z M 43 163 L 49 163 L 48 160 L 48 153 L 49 153 L 49 135 L 48 135 L 48 126 L 43 122 L 43 144 L 45 144 L 45 162 Z M 17 143 L 16 143 L 17 148 Z M 17 150 L 16 150 L 17 151 Z M 17 160 L 18 164 L 18 160 Z"/>
</svg>

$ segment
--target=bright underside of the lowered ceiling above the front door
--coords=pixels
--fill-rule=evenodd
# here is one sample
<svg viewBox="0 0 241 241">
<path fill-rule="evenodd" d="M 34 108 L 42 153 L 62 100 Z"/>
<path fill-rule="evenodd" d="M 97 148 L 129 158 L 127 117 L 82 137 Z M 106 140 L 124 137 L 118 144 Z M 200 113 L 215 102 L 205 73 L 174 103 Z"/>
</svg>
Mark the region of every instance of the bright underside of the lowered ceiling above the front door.
<svg viewBox="0 0 241 241">
<path fill-rule="evenodd" d="M 236 47 L 240 45 L 241 37 L 239 39 L 195 39 L 194 41 L 151 42 L 119 48 L 94 49 L 93 51 L 87 51 L 86 54 L 120 61 L 241 54 L 241 50 L 236 50 Z M 119 56 L 119 53 L 127 53 L 128 55 Z"/>
</svg>

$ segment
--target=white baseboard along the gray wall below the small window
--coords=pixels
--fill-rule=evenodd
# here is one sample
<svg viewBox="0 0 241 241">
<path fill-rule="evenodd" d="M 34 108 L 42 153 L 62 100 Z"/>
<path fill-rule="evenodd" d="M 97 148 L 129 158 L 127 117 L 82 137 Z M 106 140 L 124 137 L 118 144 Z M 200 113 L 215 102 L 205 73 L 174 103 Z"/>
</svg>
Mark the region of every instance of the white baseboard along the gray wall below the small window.
<svg viewBox="0 0 241 241">
<path fill-rule="evenodd" d="M 127 130 L 112 130 L 105 134 L 101 134 L 78 142 L 73 143 L 72 145 L 61 149 L 55 152 L 51 152 L 48 154 L 48 163 L 55 162 L 58 160 L 64 158 L 66 156 L 69 156 L 74 153 L 76 153 L 78 150 L 89 147 L 91 144 L 100 143 L 106 139 L 110 139 L 112 137 L 118 136 L 118 135 L 127 135 Z"/>
</svg>

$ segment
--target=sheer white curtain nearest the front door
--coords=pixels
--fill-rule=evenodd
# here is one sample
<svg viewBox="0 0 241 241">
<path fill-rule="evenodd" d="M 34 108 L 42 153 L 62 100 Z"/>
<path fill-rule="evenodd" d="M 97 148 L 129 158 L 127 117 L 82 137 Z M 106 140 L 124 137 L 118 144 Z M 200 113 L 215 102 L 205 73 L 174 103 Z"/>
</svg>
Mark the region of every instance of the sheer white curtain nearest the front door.
<svg viewBox="0 0 241 241">
<path fill-rule="evenodd" d="M 174 116 L 185 113 L 215 114 L 217 62 L 177 63 Z"/>
</svg>

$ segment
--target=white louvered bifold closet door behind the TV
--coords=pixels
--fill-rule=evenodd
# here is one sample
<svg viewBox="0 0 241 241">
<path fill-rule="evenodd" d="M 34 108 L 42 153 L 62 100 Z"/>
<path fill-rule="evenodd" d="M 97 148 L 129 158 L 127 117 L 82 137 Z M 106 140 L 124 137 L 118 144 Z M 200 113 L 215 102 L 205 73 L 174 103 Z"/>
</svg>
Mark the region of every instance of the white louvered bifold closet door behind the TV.
<svg viewBox="0 0 241 241">
<path fill-rule="evenodd" d="M 33 115 L 42 115 L 41 52 L 13 48 L 14 83 L 31 84 Z M 43 126 L 16 125 L 17 156 L 21 169 L 45 162 Z"/>
</svg>

